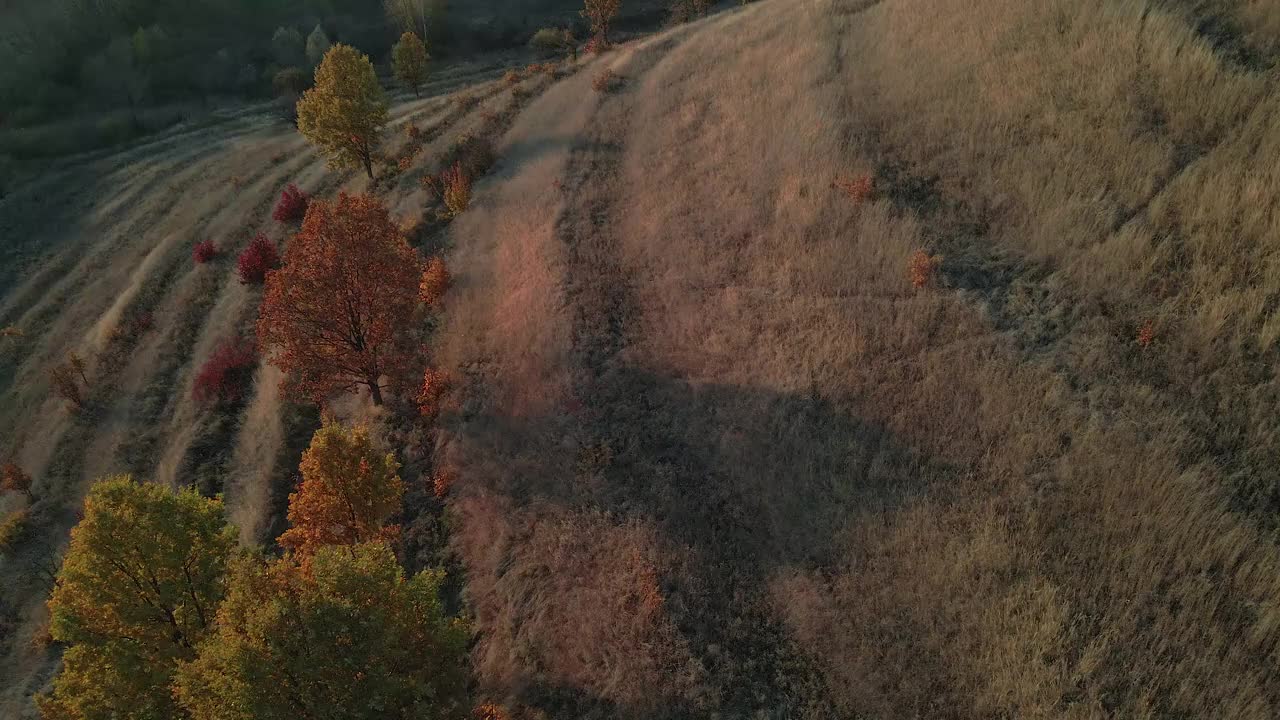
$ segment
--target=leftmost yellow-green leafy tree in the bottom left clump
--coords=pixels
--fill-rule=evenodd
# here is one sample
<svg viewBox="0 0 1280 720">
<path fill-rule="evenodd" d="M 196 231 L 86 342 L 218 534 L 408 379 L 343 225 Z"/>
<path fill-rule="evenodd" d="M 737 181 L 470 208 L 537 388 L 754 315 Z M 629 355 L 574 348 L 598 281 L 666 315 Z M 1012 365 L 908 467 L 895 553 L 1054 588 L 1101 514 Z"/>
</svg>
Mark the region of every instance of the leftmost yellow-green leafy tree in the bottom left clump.
<svg viewBox="0 0 1280 720">
<path fill-rule="evenodd" d="M 49 601 L 69 647 L 46 720 L 168 720 L 169 685 L 195 657 L 223 598 L 236 530 L 223 505 L 120 475 L 96 483 Z"/>
</svg>

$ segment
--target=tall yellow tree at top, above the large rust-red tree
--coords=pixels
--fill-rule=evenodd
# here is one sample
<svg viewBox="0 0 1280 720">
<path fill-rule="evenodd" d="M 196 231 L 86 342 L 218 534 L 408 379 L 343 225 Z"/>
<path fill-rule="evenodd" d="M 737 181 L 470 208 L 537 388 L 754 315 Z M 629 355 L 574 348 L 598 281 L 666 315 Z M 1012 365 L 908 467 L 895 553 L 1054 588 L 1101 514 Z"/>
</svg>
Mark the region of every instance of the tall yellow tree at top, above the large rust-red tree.
<svg viewBox="0 0 1280 720">
<path fill-rule="evenodd" d="M 334 45 L 298 100 L 298 131 L 334 168 L 364 167 L 374 177 L 374 150 L 387 124 L 387 99 L 369 56 Z"/>
</svg>

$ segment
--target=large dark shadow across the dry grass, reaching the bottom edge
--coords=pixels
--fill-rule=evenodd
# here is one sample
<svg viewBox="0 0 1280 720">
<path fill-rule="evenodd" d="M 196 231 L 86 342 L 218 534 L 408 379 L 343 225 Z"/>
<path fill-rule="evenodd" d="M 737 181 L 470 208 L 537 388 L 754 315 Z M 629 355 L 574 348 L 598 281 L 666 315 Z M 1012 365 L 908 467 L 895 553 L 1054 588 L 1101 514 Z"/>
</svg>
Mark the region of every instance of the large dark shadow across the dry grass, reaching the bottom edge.
<svg viewBox="0 0 1280 720">
<path fill-rule="evenodd" d="M 522 700 L 575 717 L 836 716 L 819 674 L 768 609 L 768 584 L 835 566 L 846 530 L 886 521 L 960 470 L 812 391 L 694 386 L 622 366 L 579 386 L 570 405 L 547 418 L 453 418 L 466 464 L 503 469 L 462 482 L 515 507 L 604 511 L 655 528 L 662 547 L 682 556 L 662 591 L 700 680 L 660 708 L 627 708 L 534 673 Z M 553 571 L 564 570 L 580 571 Z"/>
</svg>

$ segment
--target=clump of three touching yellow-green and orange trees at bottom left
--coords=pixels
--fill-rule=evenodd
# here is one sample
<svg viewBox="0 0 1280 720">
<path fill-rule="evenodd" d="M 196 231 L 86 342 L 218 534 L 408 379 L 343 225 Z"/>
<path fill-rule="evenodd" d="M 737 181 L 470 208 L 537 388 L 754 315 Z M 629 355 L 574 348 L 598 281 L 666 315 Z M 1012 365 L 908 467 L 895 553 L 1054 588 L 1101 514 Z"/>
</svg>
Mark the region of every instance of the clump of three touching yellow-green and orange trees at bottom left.
<svg viewBox="0 0 1280 720">
<path fill-rule="evenodd" d="M 238 550 L 220 500 L 93 486 L 49 607 L 69 648 L 46 719 L 457 717 L 468 634 L 443 573 L 390 550 L 399 466 L 328 421 L 303 454 L 282 557 Z"/>
</svg>

